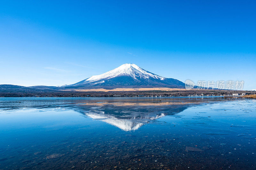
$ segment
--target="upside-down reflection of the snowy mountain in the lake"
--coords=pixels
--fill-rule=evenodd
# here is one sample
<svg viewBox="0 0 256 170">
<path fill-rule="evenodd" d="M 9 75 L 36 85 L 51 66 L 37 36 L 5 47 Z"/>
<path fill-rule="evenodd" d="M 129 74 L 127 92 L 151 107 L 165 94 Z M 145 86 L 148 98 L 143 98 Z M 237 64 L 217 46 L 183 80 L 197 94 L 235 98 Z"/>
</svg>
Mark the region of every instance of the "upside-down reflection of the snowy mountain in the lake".
<svg viewBox="0 0 256 170">
<path fill-rule="evenodd" d="M 93 108 L 90 111 L 83 112 L 84 115 L 108 124 L 114 125 L 122 130 L 131 131 L 139 129 L 142 125 L 164 117 L 166 115 L 175 115 L 187 107 L 162 107 L 162 108 Z M 81 112 L 81 111 L 80 111 Z"/>
</svg>

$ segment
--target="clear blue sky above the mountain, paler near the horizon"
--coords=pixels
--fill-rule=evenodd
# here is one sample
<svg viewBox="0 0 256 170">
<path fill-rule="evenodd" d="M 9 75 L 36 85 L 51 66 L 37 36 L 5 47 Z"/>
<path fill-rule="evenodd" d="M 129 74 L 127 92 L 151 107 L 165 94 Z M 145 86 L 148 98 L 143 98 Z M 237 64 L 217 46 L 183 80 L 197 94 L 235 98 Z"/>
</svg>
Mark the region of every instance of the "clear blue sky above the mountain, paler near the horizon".
<svg viewBox="0 0 256 170">
<path fill-rule="evenodd" d="M 0 84 L 65 85 L 124 63 L 256 89 L 256 1 L 0 1 Z"/>
</svg>

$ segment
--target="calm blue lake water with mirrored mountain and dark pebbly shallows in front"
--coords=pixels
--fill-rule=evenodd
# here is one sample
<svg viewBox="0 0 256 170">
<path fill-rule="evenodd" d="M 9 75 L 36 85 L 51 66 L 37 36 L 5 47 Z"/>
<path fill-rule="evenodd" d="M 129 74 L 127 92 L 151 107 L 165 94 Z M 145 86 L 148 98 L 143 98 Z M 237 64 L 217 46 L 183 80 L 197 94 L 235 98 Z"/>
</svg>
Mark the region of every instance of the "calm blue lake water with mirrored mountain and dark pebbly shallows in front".
<svg viewBox="0 0 256 170">
<path fill-rule="evenodd" d="M 0 98 L 0 169 L 256 169 L 256 100 Z"/>
</svg>

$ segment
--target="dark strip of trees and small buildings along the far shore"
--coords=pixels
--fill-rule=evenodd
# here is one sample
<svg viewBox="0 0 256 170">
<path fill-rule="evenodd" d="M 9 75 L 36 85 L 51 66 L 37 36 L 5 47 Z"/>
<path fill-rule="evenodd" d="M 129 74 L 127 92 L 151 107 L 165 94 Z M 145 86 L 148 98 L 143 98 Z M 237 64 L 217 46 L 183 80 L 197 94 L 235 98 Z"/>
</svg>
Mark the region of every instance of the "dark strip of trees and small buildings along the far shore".
<svg viewBox="0 0 256 170">
<path fill-rule="evenodd" d="M 248 98 L 255 98 L 255 91 L 231 90 L 174 90 L 174 91 L 120 91 L 120 92 L 0 92 L 0 97 L 142 97 L 142 96 L 232 96 L 245 93 Z M 235 96 L 237 97 L 237 96 Z"/>
</svg>

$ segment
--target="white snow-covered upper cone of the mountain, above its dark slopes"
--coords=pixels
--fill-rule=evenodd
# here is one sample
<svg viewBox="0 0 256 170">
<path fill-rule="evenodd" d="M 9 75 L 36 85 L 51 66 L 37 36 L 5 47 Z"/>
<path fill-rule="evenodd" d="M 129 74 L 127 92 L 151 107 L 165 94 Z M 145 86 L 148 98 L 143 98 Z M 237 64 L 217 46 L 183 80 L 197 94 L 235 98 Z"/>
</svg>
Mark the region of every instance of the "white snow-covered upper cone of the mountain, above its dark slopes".
<svg viewBox="0 0 256 170">
<path fill-rule="evenodd" d="M 114 77 L 117 77 L 117 76 L 130 76 L 134 79 L 137 79 L 137 78 L 144 78 L 144 79 L 156 78 L 156 79 L 159 79 L 159 80 L 164 80 L 165 79 L 164 77 L 158 76 L 156 74 L 150 73 L 147 70 L 144 70 L 144 69 L 140 68 L 136 64 L 126 63 L 126 64 L 123 64 L 123 65 L 117 67 L 114 70 L 110 70 L 106 73 L 87 78 L 87 79 L 84 80 L 84 83 L 91 83 L 91 82 L 94 82 L 94 81 L 114 78 Z"/>
</svg>

